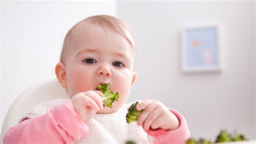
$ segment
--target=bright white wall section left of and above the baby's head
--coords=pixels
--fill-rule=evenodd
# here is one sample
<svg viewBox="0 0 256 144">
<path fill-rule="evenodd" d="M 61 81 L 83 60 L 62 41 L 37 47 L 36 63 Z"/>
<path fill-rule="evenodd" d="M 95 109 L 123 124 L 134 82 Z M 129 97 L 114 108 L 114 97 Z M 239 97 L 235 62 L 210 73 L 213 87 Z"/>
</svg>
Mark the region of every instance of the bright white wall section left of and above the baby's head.
<svg viewBox="0 0 256 144">
<path fill-rule="evenodd" d="M 55 75 L 66 32 L 88 16 L 116 16 L 116 2 L 1 3 L 2 127 L 9 106 L 20 92 Z"/>
</svg>

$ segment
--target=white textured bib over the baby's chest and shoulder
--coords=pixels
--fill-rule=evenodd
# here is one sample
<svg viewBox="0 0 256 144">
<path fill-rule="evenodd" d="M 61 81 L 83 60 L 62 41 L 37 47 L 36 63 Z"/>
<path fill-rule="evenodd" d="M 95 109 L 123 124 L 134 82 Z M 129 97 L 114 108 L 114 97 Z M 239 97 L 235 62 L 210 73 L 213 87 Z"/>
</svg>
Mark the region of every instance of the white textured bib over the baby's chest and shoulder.
<svg viewBox="0 0 256 144">
<path fill-rule="evenodd" d="M 24 118 L 32 118 L 45 114 L 49 108 L 64 102 L 66 99 L 55 99 L 43 102 L 25 114 Z M 152 138 L 147 135 L 137 123 L 126 123 L 126 113 L 130 104 L 124 104 L 120 109 L 108 114 L 95 114 L 87 126 L 89 132 L 75 143 L 125 143 L 134 141 L 136 143 L 153 143 Z M 70 121 L 72 123 L 72 120 Z M 150 140 L 149 140 L 150 139 Z M 150 142 L 149 142 L 150 141 Z"/>
</svg>

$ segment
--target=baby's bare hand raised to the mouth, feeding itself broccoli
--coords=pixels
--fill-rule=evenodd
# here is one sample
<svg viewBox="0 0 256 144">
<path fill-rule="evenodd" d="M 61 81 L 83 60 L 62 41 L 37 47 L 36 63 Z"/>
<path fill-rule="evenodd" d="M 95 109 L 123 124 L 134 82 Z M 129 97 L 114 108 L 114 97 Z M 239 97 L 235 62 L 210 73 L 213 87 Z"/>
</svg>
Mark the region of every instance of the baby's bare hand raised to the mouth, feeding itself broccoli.
<svg viewBox="0 0 256 144">
<path fill-rule="evenodd" d="M 99 110 L 103 109 L 100 91 L 80 92 L 71 98 L 71 102 L 79 117 L 87 123 Z"/>
</svg>

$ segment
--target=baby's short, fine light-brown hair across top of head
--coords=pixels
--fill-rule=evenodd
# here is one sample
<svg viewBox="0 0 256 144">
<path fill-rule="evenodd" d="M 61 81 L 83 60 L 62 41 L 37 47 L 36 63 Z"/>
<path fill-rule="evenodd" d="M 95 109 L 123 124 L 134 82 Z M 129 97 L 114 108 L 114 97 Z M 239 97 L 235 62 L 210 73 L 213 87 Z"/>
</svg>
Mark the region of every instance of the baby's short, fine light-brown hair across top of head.
<svg viewBox="0 0 256 144">
<path fill-rule="evenodd" d="M 63 47 L 62 47 L 62 53 L 60 54 L 60 62 L 64 63 L 64 55 L 66 53 L 67 47 L 69 47 L 69 43 L 72 41 L 72 35 L 76 34 L 76 29 L 79 25 L 86 25 L 86 21 L 92 24 L 98 24 L 106 30 L 106 28 L 112 30 L 113 32 L 116 32 L 122 37 L 124 37 L 127 42 L 129 42 L 130 46 L 136 51 L 136 47 L 134 44 L 133 36 L 129 30 L 129 27 L 122 21 L 119 20 L 116 17 L 107 16 L 107 15 L 96 15 L 87 17 L 84 20 L 79 21 L 76 25 L 74 25 L 69 32 L 66 34 Z"/>
</svg>

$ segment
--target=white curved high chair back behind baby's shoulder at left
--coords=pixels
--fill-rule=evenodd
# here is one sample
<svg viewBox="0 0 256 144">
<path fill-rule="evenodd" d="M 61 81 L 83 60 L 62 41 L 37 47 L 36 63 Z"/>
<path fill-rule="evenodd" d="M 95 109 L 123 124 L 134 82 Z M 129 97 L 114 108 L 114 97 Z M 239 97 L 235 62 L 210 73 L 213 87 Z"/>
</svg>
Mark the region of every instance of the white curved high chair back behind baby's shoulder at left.
<svg viewBox="0 0 256 144">
<path fill-rule="evenodd" d="M 3 137 L 8 129 L 18 124 L 26 111 L 39 103 L 57 98 L 69 99 L 69 96 L 66 90 L 60 86 L 56 77 L 48 78 L 25 89 L 14 100 L 6 113 L 1 132 L 1 142 L 3 142 Z"/>
</svg>

